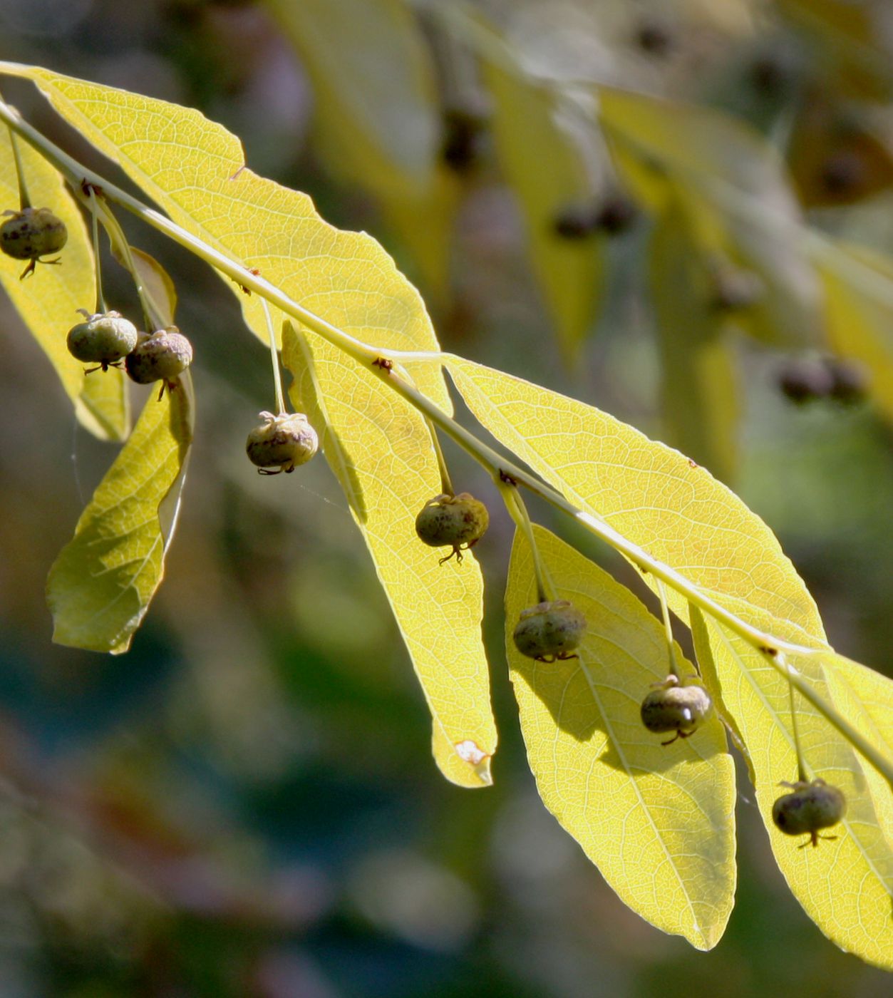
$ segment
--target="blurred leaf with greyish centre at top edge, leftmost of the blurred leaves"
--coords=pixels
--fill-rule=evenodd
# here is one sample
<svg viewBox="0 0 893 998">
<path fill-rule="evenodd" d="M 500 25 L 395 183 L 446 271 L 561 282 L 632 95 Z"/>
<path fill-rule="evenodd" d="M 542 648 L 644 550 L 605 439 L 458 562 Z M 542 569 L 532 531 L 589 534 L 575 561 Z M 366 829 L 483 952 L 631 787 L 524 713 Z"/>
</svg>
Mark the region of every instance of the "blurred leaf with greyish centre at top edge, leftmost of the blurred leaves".
<svg viewBox="0 0 893 998">
<path fill-rule="evenodd" d="M 430 55 L 403 0 L 265 0 L 313 85 L 320 149 L 368 191 L 444 298 L 458 185 L 439 162 Z"/>
</svg>

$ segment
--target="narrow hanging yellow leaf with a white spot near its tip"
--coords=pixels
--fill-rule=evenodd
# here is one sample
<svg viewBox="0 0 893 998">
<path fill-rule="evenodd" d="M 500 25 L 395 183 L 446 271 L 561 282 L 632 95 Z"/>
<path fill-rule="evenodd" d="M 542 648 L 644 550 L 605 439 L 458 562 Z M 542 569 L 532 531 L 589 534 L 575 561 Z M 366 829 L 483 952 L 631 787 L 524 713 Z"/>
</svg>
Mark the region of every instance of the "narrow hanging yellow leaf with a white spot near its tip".
<svg viewBox="0 0 893 998">
<path fill-rule="evenodd" d="M 282 359 L 294 375 L 291 400 L 317 427 L 375 561 L 378 578 L 434 720 L 443 774 L 463 786 L 491 782 L 496 727 L 481 643 L 483 582 L 466 554 L 438 564 L 415 517 L 441 491 L 424 419 L 339 350 L 307 332 L 283 332 Z M 349 384 L 345 397 L 338 386 Z"/>
</svg>

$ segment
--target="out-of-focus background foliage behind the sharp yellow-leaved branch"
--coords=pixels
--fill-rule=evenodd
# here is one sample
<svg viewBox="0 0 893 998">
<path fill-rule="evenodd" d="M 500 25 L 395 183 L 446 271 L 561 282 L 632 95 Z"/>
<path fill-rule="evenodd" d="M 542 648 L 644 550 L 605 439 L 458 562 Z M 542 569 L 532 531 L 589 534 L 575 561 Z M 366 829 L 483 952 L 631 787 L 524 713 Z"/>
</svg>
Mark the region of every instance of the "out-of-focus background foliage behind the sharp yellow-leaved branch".
<svg viewBox="0 0 893 998">
<path fill-rule="evenodd" d="M 890 674 L 884 0 L 0 0 L 0 30 L 5 59 L 199 107 L 252 169 L 381 240 L 446 349 L 709 467 L 778 533 L 835 647 Z M 4 93 L 91 157 L 26 86 Z M 200 408 L 168 578 L 126 657 L 50 644 L 46 571 L 113 450 L 3 305 L 0 993 L 888 994 L 787 893 L 745 780 L 737 906 L 708 954 L 629 912 L 544 811 L 495 510 L 476 552 L 496 785 L 438 776 L 333 479 L 321 461 L 262 479 L 241 455 L 264 351 L 211 273 L 129 232 L 178 283 Z"/>
</svg>

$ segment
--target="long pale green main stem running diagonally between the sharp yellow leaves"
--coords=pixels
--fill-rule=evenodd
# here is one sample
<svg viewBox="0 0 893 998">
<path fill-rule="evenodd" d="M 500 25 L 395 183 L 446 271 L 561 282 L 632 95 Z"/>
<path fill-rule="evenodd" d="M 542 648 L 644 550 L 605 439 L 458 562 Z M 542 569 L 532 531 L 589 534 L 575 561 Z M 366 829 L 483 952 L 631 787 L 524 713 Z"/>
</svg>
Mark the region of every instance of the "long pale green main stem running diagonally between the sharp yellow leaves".
<svg viewBox="0 0 893 998">
<path fill-rule="evenodd" d="M 0 120 L 5 122 L 12 130 L 34 146 L 53 166 L 65 177 L 77 197 L 85 200 L 85 195 L 81 189 L 83 183 L 87 183 L 102 189 L 105 197 L 127 209 L 134 215 L 142 219 L 146 224 L 154 227 L 166 236 L 174 240 L 175 243 L 192 251 L 207 263 L 217 267 L 221 272 L 231 277 L 242 287 L 245 287 L 270 304 L 275 305 L 286 315 L 296 319 L 299 323 L 321 336 L 334 346 L 343 350 L 348 356 L 362 364 L 367 364 L 369 369 L 375 373 L 382 381 L 385 381 L 394 391 L 403 397 L 410 405 L 414 406 L 423 415 L 426 415 L 435 426 L 447 433 L 459 446 L 468 451 L 472 457 L 487 468 L 495 478 L 500 472 L 504 472 L 514 481 L 530 489 L 534 494 L 539 495 L 557 509 L 576 519 L 587 530 L 605 541 L 615 550 L 625 555 L 635 565 L 650 572 L 655 579 L 658 579 L 670 586 L 673 590 L 683 596 L 688 602 L 694 604 L 702 612 L 709 614 L 719 624 L 726 627 L 747 644 L 763 652 L 767 660 L 772 663 L 779 673 L 787 676 L 797 692 L 816 710 L 823 715 L 832 727 L 840 735 L 849 741 L 862 755 L 864 755 L 885 778 L 893 785 L 893 762 L 886 759 L 877 749 L 867 742 L 840 714 L 830 705 L 826 704 L 812 688 L 804 682 L 802 677 L 786 663 L 777 661 L 778 653 L 785 651 L 801 656 L 815 656 L 821 654 L 824 649 L 808 648 L 792 642 L 781 641 L 772 635 L 747 624 L 735 614 L 720 606 L 710 597 L 701 592 L 700 588 L 691 583 L 684 576 L 679 575 L 669 565 L 658 561 L 643 550 L 639 545 L 634 544 L 614 528 L 602 522 L 593 514 L 581 510 L 570 503 L 560 492 L 551 488 L 545 482 L 534 475 L 529 474 L 522 468 L 507 460 L 492 447 L 489 447 L 482 440 L 470 433 L 464 426 L 457 423 L 452 417 L 447 416 L 440 408 L 427 396 L 419 392 L 405 378 L 400 377 L 388 364 L 380 363 L 387 358 L 402 359 L 409 361 L 436 361 L 444 364 L 450 359 L 449 354 L 431 351 L 396 351 L 381 350 L 361 340 L 350 336 L 342 329 L 337 328 L 318 315 L 304 308 L 293 301 L 287 294 L 275 285 L 269 283 L 257 274 L 252 273 L 242 263 L 230 259 L 220 250 L 216 250 L 207 243 L 186 232 L 176 223 L 144 205 L 138 199 L 132 197 L 127 192 L 110 184 L 104 178 L 91 170 L 88 170 L 77 160 L 63 152 L 50 140 L 46 139 L 40 132 L 25 122 L 16 111 L 0 101 Z M 109 217 L 114 222 L 114 216 Z M 117 226 L 117 222 L 114 222 Z M 127 247 L 129 256 L 129 247 Z M 142 297 L 142 295 L 141 295 Z M 379 363 L 376 363 L 379 361 Z"/>
</svg>

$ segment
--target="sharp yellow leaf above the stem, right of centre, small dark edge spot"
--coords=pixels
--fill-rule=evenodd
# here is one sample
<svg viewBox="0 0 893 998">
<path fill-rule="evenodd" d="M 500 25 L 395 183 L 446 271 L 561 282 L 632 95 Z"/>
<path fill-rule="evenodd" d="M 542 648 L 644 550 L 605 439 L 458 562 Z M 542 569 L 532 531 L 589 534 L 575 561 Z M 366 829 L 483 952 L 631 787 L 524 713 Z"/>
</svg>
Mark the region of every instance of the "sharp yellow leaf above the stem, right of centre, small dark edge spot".
<svg viewBox="0 0 893 998">
<path fill-rule="evenodd" d="M 703 468 L 584 402 L 444 359 L 475 417 L 570 502 L 735 613 L 763 610 L 823 638 L 815 604 L 772 532 Z M 685 602 L 669 595 L 684 618 Z"/>
</svg>

